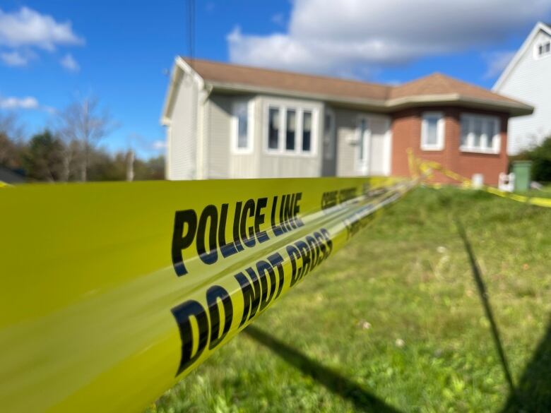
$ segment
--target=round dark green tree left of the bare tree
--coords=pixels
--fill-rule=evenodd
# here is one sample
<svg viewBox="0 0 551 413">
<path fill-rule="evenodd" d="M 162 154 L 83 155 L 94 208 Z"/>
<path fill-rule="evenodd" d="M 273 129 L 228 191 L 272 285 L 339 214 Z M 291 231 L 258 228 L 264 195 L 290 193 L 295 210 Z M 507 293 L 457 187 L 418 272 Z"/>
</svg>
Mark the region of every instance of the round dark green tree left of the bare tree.
<svg viewBox="0 0 551 413">
<path fill-rule="evenodd" d="M 48 130 L 32 136 L 23 164 L 27 175 L 37 181 L 59 181 L 63 176 L 64 144 Z"/>
</svg>

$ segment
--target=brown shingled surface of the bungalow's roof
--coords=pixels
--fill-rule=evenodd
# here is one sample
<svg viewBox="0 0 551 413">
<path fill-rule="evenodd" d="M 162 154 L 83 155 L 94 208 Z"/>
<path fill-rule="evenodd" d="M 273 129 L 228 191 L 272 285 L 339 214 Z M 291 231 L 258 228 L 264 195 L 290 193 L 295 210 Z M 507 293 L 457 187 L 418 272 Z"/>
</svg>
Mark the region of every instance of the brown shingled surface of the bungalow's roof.
<svg viewBox="0 0 551 413">
<path fill-rule="evenodd" d="M 403 85 L 391 86 L 345 80 L 327 76 L 312 76 L 288 71 L 239 66 L 202 59 L 184 59 L 194 71 L 215 88 L 232 87 L 293 92 L 314 95 L 328 100 L 369 101 L 381 107 L 393 107 L 396 102 L 422 100 L 441 102 L 445 99 L 475 101 L 489 106 L 503 107 L 502 110 L 519 109 L 521 112 L 531 107 L 509 97 L 498 95 L 490 90 L 445 76 L 442 73 L 413 80 Z"/>
</svg>

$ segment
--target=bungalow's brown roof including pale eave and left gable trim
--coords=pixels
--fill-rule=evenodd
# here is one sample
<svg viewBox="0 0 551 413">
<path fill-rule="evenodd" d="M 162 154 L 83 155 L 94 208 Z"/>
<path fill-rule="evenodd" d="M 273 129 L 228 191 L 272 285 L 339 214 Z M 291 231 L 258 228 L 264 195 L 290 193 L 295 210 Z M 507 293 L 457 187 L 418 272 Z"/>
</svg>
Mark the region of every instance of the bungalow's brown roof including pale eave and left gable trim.
<svg viewBox="0 0 551 413">
<path fill-rule="evenodd" d="M 208 90 L 292 95 L 324 100 L 333 104 L 357 105 L 379 112 L 392 112 L 405 107 L 429 104 L 456 104 L 507 112 L 511 116 L 533 112 L 533 107 L 528 104 L 442 73 L 433 73 L 403 85 L 391 86 L 203 59 L 177 58 L 176 67 L 198 75 L 201 83 Z M 170 100 L 173 98 L 171 89 L 172 83 L 165 104 L 165 118 L 169 117 Z"/>
</svg>

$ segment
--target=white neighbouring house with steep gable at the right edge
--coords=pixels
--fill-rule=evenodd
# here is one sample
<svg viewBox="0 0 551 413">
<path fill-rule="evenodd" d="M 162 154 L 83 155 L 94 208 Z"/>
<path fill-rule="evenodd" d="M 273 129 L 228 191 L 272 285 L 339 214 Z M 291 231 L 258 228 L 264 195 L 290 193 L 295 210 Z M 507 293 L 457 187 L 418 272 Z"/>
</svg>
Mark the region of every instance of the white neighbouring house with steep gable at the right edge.
<svg viewBox="0 0 551 413">
<path fill-rule="evenodd" d="M 535 107 L 509 122 L 509 154 L 551 136 L 551 23 L 537 23 L 492 90 Z"/>
</svg>

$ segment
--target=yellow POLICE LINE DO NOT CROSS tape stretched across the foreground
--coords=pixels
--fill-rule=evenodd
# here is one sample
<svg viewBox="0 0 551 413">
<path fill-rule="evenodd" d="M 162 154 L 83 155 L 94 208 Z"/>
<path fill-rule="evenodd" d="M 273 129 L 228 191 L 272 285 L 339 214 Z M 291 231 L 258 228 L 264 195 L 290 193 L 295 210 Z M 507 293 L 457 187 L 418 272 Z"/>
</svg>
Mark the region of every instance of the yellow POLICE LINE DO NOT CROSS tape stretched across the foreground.
<svg viewBox="0 0 551 413">
<path fill-rule="evenodd" d="M 0 406 L 138 412 L 416 181 L 0 191 Z"/>
</svg>

